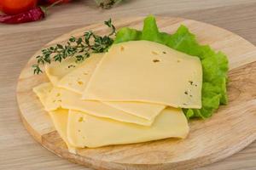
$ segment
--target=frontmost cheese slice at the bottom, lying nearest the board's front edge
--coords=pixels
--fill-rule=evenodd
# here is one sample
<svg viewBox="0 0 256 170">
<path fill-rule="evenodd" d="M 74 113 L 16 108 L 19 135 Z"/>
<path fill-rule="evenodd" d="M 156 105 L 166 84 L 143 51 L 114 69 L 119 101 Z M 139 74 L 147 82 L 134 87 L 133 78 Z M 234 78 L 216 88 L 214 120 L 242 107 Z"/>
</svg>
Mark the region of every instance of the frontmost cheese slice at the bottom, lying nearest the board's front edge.
<svg viewBox="0 0 256 170">
<path fill-rule="evenodd" d="M 109 144 L 132 144 L 166 138 L 185 138 L 189 133 L 181 109 L 166 108 L 151 127 L 117 122 L 107 118 L 70 111 L 67 138 L 76 147 L 95 148 Z"/>
</svg>

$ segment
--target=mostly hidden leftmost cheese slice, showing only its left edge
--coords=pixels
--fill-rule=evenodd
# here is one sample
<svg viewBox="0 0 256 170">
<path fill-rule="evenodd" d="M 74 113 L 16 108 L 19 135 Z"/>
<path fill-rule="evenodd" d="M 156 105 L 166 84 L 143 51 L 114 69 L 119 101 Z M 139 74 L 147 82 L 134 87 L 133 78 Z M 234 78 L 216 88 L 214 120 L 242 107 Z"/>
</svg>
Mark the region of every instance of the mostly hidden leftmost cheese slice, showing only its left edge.
<svg viewBox="0 0 256 170">
<path fill-rule="evenodd" d="M 33 88 L 35 94 L 37 94 L 38 98 L 42 102 L 45 107 L 45 101 L 47 96 L 52 89 L 52 85 L 49 82 L 45 82 L 40 84 L 39 86 Z M 51 117 L 52 122 L 54 123 L 56 131 L 60 134 L 61 139 L 67 144 L 67 148 L 71 153 L 76 152 L 76 148 L 70 144 L 67 140 L 67 118 L 68 118 L 68 110 L 59 109 L 56 111 L 49 111 L 49 116 Z"/>
</svg>

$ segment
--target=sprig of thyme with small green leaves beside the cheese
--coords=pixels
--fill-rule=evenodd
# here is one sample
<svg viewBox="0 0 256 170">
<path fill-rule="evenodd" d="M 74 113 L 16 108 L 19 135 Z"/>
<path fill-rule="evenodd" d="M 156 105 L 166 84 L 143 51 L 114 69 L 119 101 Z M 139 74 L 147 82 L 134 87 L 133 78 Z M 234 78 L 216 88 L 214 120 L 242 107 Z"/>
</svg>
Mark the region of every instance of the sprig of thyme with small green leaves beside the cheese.
<svg viewBox="0 0 256 170">
<path fill-rule="evenodd" d="M 103 53 L 113 44 L 113 37 L 116 29 L 112 20 L 104 21 L 104 24 L 111 28 L 111 32 L 103 37 L 96 35 L 93 31 L 84 32 L 83 37 L 70 37 L 67 44 L 56 44 L 55 46 L 42 49 L 38 55 L 37 64 L 32 65 L 34 74 L 42 73 L 41 66 L 50 64 L 52 61 L 61 62 L 67 57 L 75 57 L 76 62 L 84 61 L 91 53 Z"/>
</svg>

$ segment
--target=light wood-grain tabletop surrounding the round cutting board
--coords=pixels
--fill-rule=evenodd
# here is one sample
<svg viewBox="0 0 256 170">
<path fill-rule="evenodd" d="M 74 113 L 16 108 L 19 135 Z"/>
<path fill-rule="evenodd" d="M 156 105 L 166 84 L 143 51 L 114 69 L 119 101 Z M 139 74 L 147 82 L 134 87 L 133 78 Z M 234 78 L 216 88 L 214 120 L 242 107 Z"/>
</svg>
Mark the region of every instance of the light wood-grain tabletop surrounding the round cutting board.
<svg viewBox="0 0 256 170">
<path fill-rule="evenodd" d="M 256 45 L 255 0 L 126 0 L 102 10 L 92 0 L 52 8 L 47 20 L 19 26 L 0 25 L 0 169 L 86 169 L 44 149 L 20 122 L 15 88 L 32 54 L 61 34 L 109 17 L 158 14 L 200 20 L 233 31 Z M 256 142 L 224 161 L 196 170 L 255 170 Z"/>
</svg>

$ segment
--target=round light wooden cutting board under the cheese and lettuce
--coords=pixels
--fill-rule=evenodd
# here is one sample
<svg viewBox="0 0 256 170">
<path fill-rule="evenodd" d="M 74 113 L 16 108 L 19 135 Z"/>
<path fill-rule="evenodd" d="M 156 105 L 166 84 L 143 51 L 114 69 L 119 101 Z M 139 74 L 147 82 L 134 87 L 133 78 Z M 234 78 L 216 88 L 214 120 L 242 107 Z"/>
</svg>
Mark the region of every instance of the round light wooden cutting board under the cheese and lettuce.
<svg viewBox="0 0 256 170">
<path fill-rule="evenodd" d="M 44 111 L 32 88 L 48 82 L 44 75 L 32 73 L 32 56 L 20 74 L 17 99 L 20 115 L 27 130 L 45 148 L 56 155 L 96 169 L 191 169 L 224 159 L 243 149 L 256 139 L 256 48 L 236 34 L 195 20 L 157 17 L 161 31 L 173 33 L 181 24 L 195 33 L 201 44 L 209 44 L 228 55 L 229 105 L 221 106 L 207 120 L 189 122 L 189 137 L 184 140 L 164 139 L 141 144 L 107 146 L 78 150 L 74 155 L 56 133 L 48 114 Z M 130 26 L 141 29 L 143 17 L 113 21 L 117 28 Z M 86 26 L 72 31 L 45 47 L 66 42 L 73 35 L 80 37 L 84 31 L 105 34 L 102 24 Z M 45 48 L 44 47 L 44 48 Z"/>
</svg>

